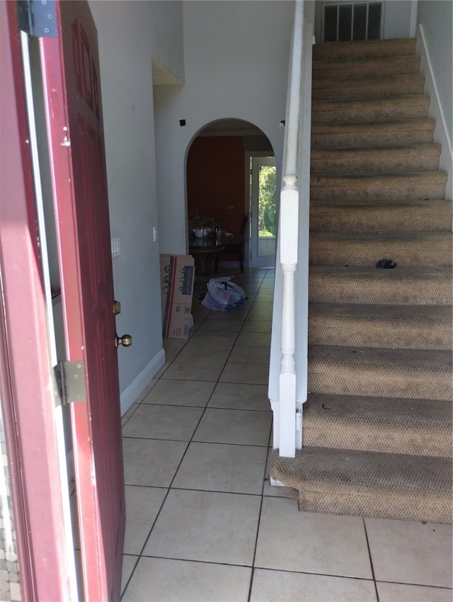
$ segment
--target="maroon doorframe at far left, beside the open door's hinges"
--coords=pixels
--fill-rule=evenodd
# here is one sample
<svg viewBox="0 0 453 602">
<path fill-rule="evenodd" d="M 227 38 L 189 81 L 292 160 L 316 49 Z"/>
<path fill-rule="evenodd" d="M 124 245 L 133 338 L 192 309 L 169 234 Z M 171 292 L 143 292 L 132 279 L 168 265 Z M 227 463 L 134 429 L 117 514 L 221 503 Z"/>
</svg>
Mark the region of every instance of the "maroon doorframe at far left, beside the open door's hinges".
<svg viewBox="0 0 453 602">
<path fill-rule="evenodd" d="M 0 2 L 0 45 L 0 370 L 21 590 L 71 600 L 16 2 Z"/>
</svg>

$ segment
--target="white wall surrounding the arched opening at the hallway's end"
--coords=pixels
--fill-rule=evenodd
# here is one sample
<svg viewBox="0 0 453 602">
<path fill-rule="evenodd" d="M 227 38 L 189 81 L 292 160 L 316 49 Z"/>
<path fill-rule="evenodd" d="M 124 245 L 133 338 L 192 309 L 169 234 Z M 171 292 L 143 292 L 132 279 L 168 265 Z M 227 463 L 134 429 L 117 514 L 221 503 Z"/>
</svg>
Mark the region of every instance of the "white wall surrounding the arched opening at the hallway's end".
<svg viewBox="0 0 453 602">
<path fill-rule="evenodd" d="M 293 17 L 293 1 L 183 2 L 185 84 L 154 92 L 163 253 L 186 252 L 185 157 L 207 123 L 254 123 L 281 165 Z"/>
</svg>

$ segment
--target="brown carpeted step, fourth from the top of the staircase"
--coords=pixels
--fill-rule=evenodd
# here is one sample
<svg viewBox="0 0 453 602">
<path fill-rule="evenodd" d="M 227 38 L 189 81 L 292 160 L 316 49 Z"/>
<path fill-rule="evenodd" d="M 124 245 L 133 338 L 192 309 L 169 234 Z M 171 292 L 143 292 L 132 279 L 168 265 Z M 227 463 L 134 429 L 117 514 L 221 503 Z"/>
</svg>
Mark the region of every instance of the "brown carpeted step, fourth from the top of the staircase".
<svg viewBox="0 0 453 602">
<path fill-rule="evenodd" d="M 367 123 L 369 121 L 416 119 L 428 117 L 430 96 L 413 94 L 367 100 L 314 101 L 313 123 Z"/>
</svg>

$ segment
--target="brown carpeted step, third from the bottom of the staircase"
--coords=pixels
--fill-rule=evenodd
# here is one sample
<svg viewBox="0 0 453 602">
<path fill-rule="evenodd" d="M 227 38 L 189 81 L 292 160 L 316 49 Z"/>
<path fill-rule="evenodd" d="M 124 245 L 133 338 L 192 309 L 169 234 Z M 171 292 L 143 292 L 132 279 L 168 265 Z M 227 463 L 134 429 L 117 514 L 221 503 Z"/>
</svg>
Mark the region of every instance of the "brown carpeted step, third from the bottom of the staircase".
<svg viewBox="0 0 453 602">
<path fill-rule="evenodd" d="M 309 346 L 309 392 L 452 399 L 452 352 Z"/>
</svg>

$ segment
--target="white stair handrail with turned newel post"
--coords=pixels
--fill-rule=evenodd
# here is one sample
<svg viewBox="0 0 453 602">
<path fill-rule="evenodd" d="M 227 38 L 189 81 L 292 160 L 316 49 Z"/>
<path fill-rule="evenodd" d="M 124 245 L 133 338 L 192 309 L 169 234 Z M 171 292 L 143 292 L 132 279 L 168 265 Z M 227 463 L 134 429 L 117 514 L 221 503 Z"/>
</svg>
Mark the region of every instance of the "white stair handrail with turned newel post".
<svg viewBox="0 0 453 602">
<path fill-rule="evenodd" d="M 287 458 L 294 458 L 296 449 L 302 446 L 302 404 L 307 383 L 312 31 L 313 25 L 304 23 L 304 1 L 297 0 L 289 64 L 269 381 L 273 445 L 279 448 L 280 456 Z"/>
</svg>

